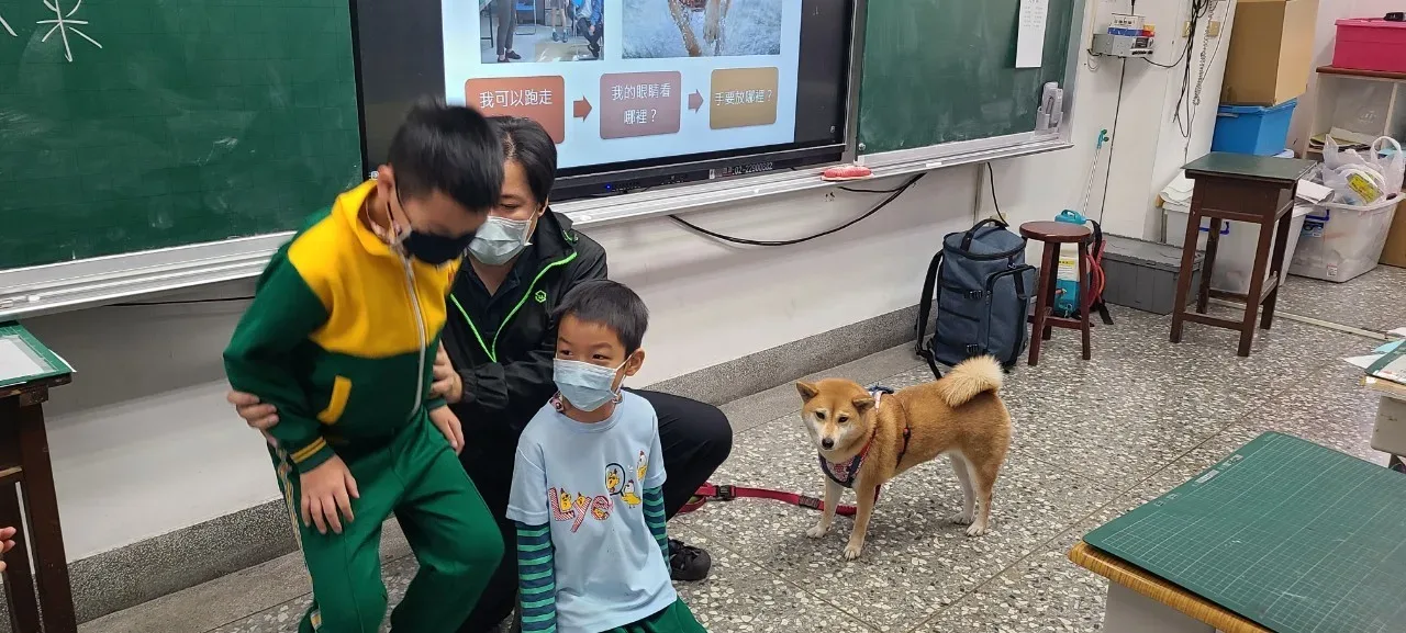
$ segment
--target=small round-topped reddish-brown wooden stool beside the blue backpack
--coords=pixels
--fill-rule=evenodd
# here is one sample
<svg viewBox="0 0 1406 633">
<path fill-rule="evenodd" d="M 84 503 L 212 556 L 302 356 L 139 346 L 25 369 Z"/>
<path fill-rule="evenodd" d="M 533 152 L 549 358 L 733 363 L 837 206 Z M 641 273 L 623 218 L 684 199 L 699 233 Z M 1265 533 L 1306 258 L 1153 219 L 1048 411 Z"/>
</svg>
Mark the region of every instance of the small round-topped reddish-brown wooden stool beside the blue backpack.
<svg viewBox="0 0 1406 633">
<path fill-rule="evenodd" d="M 1040 362 L 1040 341 L 1047 341 L 1056 326 L 1080 330 L 1084 334 L 1084 359 L 1088 361 L 1088 241 L 1092 232 L 1084 225 L 1069 222 L 1026 222 L 1021 225 L 1021 236 L 1045 243 L 1040 255 L 1040 278 L 1035 284 L 1035 314 L 1031 316 L 1031 365 Z M 1054 316 L 1056 285 L 1059 284 L 1059 248 L 1063 244 L 1078 244 L 1078 319 Z"/>
</svg>

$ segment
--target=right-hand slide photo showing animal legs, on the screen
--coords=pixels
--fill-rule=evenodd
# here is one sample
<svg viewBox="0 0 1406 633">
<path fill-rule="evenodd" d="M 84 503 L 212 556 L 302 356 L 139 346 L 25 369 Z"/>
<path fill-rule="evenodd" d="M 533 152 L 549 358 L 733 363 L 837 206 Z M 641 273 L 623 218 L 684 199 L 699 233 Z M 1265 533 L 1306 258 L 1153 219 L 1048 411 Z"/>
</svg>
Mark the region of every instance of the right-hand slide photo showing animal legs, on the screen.
<svg viewBox="0 0 1406 633">
<path fill-rule="evenodd" d="M 783 0 L 623 0 L 623 56 L 782 53 Z"/>
</svg>

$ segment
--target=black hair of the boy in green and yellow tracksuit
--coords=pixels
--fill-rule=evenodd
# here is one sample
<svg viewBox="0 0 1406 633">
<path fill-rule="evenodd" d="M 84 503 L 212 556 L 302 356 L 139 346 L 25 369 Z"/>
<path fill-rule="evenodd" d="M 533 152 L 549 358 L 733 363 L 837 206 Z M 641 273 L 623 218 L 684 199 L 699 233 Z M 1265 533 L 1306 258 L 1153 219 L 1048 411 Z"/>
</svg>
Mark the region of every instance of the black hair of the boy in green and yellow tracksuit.
<svg viewBox="0 0 1406 633">
<path fill-rule="evenodd" d="M 434 191 L 475 213 L 498 205 L 502 143 L 484 115 L 439 100 L 416 102 L 391 139 L 387 163 L 405 198 Z"/>
</svg>

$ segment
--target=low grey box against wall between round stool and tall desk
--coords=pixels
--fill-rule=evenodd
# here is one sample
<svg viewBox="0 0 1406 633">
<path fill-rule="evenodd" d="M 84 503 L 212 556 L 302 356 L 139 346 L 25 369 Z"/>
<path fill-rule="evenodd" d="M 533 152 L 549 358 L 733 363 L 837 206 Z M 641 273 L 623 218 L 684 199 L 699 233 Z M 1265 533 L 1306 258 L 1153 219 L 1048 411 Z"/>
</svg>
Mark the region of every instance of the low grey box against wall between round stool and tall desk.
<svg viewBox="0 0 1406 633">
<path fill-rule="evenodd" d="M 1107 233 L 1104 240 L 1108 244 L 1104 248 L 1104 300 L 1154 314 L 1171 314 L 1171 306 L 1177 303 L 1177 279 L 1181 278 L 1181 248 Z M 1204 261 L 1205 255 L 1197 253 L 1191 288 L 1201 285 Z M 1194 296 L 1187 295 L 1188 299 Z"/>
</svg>

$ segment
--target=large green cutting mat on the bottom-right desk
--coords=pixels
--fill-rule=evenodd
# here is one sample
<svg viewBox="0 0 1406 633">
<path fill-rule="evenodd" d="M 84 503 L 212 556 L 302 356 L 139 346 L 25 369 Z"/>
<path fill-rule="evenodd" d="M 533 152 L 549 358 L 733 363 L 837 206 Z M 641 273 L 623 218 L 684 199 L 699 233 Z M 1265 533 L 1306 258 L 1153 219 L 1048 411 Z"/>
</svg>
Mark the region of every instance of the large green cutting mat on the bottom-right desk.
<svg viewBox="0 0 1406 633">
<path fill-rule="evenodd" d="M 1084 540 L 1278 633 L 1406 630 L 1406 476 L 1289 435 Z"/>
</svg>

